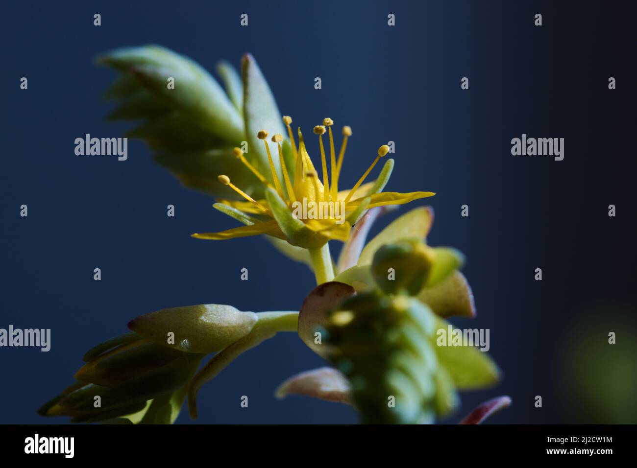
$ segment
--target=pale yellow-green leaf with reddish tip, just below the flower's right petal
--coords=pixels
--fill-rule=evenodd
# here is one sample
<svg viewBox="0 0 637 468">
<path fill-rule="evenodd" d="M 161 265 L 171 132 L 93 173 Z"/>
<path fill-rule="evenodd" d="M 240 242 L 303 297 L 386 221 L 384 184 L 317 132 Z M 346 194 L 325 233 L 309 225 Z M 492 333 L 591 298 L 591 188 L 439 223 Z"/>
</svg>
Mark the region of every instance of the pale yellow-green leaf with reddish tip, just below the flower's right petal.
<svg viewBox="0 0 637 468">
<path fill-rule="evenodd" d="M 409 238 L 426 238 L 432 222 L 433 209 L 431 207 L 419 207 L 408 211 L 369 241 L 361 252 L 358 265 L 371 264 L 376 250 L 382 245 Z"/>
</svg>

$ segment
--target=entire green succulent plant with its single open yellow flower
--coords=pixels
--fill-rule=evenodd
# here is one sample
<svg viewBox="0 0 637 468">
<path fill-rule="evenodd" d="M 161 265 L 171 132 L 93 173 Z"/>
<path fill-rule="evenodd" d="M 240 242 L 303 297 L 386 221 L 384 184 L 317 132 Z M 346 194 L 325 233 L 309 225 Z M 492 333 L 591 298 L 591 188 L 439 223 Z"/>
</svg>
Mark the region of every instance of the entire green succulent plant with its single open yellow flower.
<svg viewBox="0 0 637 468">
<path fill-rule="evenodd" d="M 462 254 L 426 243 L 433 210 L 412 209 L 366 243 L 380 215 L 434 195 L 383 192 L 392 159 L 366 183 L 387 145 L 354 187 L 341 191 L 352 129 L 343 127 L 337 153 L 333 120 L 324 118 L 313 128 L 319 172 L 301 129 L 297 143 L 292 119 L 280 114 L 251 55 L 241 61 L 241 76 L 226 62 L 218 64 L 225 91 L 203 67 L 161 46 L 120 48 L 97 62 L 120 73 L 106 92 L 117 101 L 108 118 L 136 120 L 127 136 L 143 139 L 155 161 L 187 187 L 213 195 L 216 209 L 243 224 L 193 236 L 262 234 L 284 255 L 307 264 L 317 287 L 300 311 L 253 313 L 202 304 L 134 318 L 131 332 L 85 355 L 77 382 L 45 404 L 41 415 L 71 416 L 73 422 L 172 423 L 187 397 L 196 417 L 204 383 L 278 332 L 296 332 L 331 366 L 293 376 L 276 395 L 353 404 L 364 423 L 434 422 L 456 408 L 458 390 L 496 383 L 499 371 L 486 353 L 436 344 L 434 334 L 450 326 L 448 316 L 471 317 L 475 308 L 458 270 Z M 310 203 L 333 211 L 311 215 Z M 330 241 L 344 243 L 338 260 Z M 197 371 L 206 355 L 210 361 Z M 509 403 L 508 397 L 486 402 L 463 422 L 481 422 Z"/>
</svg>

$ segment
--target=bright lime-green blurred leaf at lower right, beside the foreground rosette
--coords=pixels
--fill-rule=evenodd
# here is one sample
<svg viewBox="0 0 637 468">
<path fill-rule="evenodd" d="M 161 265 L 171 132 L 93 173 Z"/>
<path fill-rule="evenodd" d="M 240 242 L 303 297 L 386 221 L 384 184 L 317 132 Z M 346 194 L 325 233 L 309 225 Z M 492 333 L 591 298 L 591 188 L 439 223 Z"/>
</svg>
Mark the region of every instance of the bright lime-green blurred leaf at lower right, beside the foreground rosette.
<svg viewBox="0 0 637 468">
<path fill-rule="evenodd" d="M 454 380 L 458 390 L 477 390 L 497 383 L 500 370 L 486 352 L 475 346 L 438 346 L 438 330 L 445 330 L 449 323 L 436 317 L 436 334 L 431 337 L 432 346 L 440 365 Z"/>
</svg>

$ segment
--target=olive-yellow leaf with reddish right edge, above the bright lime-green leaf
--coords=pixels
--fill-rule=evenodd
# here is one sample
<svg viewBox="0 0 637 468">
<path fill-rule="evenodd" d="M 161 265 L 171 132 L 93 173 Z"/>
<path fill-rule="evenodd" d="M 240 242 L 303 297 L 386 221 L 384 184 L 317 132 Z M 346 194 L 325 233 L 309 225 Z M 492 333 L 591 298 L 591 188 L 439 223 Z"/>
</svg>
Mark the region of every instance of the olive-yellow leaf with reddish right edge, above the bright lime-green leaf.
<svg viewBox="0 0 637 468">
<path fill-rule="evenodd" d="M 434 313 L 441 317 L 475 316 L 471 287 L 459 271 L 454 271 L 447 279 L 434 287 L 420 290 L 418 299 L 431 307 Z"/>
</svg>

